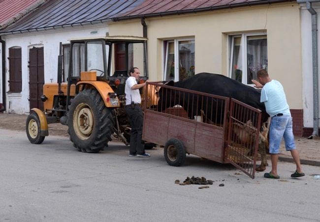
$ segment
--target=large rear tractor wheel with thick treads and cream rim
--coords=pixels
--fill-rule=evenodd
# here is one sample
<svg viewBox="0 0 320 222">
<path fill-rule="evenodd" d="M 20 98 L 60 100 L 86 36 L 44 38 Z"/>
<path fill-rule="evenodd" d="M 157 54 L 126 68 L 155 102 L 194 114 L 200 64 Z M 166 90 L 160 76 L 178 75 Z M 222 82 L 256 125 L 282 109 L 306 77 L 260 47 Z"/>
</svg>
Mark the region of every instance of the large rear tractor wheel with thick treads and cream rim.
<svg viewBox="0 0 320 222">
<path fill-rule="evenodd" d="M 78 151 L 97 153 L 111 141 L 113 112 L 96 89 L 79 91 L 68 112 L 68 133 Z"/>
</svg>

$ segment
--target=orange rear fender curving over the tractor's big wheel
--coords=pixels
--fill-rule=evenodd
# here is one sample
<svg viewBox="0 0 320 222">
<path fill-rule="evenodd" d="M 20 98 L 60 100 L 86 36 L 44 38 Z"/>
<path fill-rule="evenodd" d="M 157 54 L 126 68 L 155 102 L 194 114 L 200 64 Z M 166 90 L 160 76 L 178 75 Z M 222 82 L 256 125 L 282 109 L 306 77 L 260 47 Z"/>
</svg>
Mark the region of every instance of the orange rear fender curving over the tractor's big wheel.
<svg viewBox="0 0 320 222">
<path fill-rule="evenodd" d="M 81 81 L 81 82 L 77 83 L 77 85 L 81 85 L 81 84 L 89 84 L 89 85 L 92 85 L 93 87 L 95 87 L 96 90 L 98 90 L 98 92 L 100 93 L 101 97 L 103 98 L 103 102 L 106 107 L 120 107 L 120 101 L 119 101 L 118 97 L 115 98 L 118 100 L 118 106 L 112 106 L 111 101 L 106 100 L 106 98 L 110 98 L 110 95 L 108 95 L 108 93 L 114 92 L 108 83 L 101 82 L 101 81 Z"/>
</svg>

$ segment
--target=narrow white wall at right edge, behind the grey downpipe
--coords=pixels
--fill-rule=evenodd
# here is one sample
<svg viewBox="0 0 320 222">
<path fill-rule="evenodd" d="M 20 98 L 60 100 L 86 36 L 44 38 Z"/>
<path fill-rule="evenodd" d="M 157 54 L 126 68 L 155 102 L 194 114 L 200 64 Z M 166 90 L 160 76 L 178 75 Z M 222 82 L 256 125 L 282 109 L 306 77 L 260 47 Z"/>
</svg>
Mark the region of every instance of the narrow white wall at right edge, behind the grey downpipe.
<svg viewBox="0 0 320 222">
<path fill-rule="evenodd" d="M 320 25 L 320 3 L 312 3 L 317 12 L 318 28 Z M 302 87 L 303 87 L 303 125 L 313 128 L 313 63 L 312 63 L 312 20 L 311 13 L 301 4 L 301 41 L 302 41 Z M 320 34 L 318 32 L 318 66 L 320 67 Z M 318 70 L 320 70 L 318 67 Z M 318 72 L 319 78 L 319 72 Z M 320 78 L 319 78 L 320 80 Z M 320 81 L 318 83 L 320 85 Z M 319 92 L 318 92 L 319 93 Z M 320 98 L 320 97 L 319 97 Z M 320 101 L 318 101 L 320 104 Z"/>
</svg>

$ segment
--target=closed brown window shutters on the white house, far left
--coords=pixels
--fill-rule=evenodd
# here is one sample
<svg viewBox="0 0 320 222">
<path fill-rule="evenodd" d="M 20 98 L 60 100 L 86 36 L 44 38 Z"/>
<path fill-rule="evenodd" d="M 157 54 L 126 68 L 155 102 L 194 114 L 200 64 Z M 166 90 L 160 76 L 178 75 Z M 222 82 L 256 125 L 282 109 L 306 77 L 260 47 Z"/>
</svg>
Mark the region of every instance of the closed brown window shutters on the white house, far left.
<svg viewBox="0 0 320 222">
<path fill-rule="evenodd" d="M 9 49 L 9 91 L 22 91 L 22 59 L 21 48 L 13 47 Z"/>
</svg>

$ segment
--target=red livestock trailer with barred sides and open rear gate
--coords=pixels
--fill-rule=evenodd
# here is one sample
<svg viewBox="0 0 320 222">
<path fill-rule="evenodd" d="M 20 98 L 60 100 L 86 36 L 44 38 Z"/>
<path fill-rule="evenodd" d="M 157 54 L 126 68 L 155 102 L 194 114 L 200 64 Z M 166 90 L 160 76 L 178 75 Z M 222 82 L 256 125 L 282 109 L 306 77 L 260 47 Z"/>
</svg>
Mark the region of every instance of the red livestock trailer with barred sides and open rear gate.
<svg viewBox="0 0 320 222">
<path fill-rule="evenodd" d="M 164 111 L 157 106 L 144 109 L 143 139 L 163 146 L 169 165 L 181 166 L 188 153 L 231 163 L 255 177 L 261 111 L 232 98 L 155 82 L 146 84 L 145 99 L 156 95 L 154 90 L 160 87 L 175 90 L 179 99 Z M 181 104 L 180 98 L 188 98 L 188 102 Z M 158 100 L 151 98 L 150 102 L 157 104 Z"/>
</svg>

